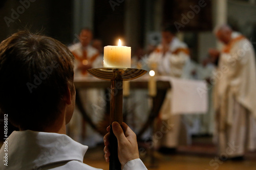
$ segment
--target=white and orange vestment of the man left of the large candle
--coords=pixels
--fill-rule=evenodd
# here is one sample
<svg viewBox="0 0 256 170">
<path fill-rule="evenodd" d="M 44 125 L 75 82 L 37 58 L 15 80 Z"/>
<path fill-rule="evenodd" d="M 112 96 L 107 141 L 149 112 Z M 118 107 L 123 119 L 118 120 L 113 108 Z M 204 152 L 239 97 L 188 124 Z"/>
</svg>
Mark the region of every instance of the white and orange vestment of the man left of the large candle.
<svg viewBox="0 0 256 170">
<path fill-rule="evenodd" d="M 97 57 L 93 60 L 92 68 L 99 68 L 103 67 L 103 56 L 100 55 L 96 48 L 88 45 L 87 47 L 82 47 L 81 43 L 76 43 L 74 45 L 69 46 L 70 51 L 75 56 L 75 63 L 74 63 L 74 72 L 75 78 L 82 78 L 82 77 L 91 77 L 87 72 L 82 72 L 78 69 L 79 64 L 81 63 L 81 58 L 83 55 L 83 50 L 86 50 L 87 53 L 87 60 L 90 62 L 90 59 L 93 57 Z M 86 112 L 91 116 L 93 122 L 97 123 L 105 111 L 105 107 L 102 106 L 102 100 L 104 100 L 104 91 L 102 89 L 80 89 L 79 95 L 82 104 Z M 79 141 L 83 144 L 89 145 L 89 147 L 94 147 L 97 142 L 101 142 L 102 138 L 99 136 L 92 128 L 87 125 L 86 127 L 86 134 L 83 133 L 82 130 L 82 115 L 77 107 L 75 107 L 73 117 L 69 124 L 69 135 L 76 141 Z M 86 136 L 84 138 L 84 136 Z"/>
</svg>

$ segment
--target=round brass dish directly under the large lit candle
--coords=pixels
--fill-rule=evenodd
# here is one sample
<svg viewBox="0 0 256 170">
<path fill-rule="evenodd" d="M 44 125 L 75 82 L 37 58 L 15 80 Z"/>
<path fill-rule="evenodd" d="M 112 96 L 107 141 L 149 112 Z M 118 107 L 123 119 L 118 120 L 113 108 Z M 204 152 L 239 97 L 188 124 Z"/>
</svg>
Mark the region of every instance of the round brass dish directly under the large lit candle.
<svg viewBox="0 0 256 170">
<path fill-rule="evenodd" d="M 137 68 L 110 68 L 110 67 L 104 67 L 104 68 L 91 68 L 87 70 L 90 75 L 101 79 L 101 80 L 117 80 L 115 77 L 116 74 L 121 76 L 122 81 L 127 80 L 133 80 L 141 77 L 144 75 L 147 71 L 143 69 L 137 69 Z"/>
</svg>

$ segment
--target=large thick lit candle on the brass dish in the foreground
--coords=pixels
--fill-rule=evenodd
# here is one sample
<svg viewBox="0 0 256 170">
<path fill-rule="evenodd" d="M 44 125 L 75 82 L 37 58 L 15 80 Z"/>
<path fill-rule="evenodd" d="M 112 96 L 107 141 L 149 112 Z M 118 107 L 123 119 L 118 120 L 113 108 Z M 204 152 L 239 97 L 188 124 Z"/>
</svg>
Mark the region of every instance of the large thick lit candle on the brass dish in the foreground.
<svg viewBox="0 0 256 170">
<path fill-rule="evenodd" d="M 104 46 L 103 67 L 131 67 L 131 47 L 122 46 L 119 39 L 118 46 Z"/>
</svg>

